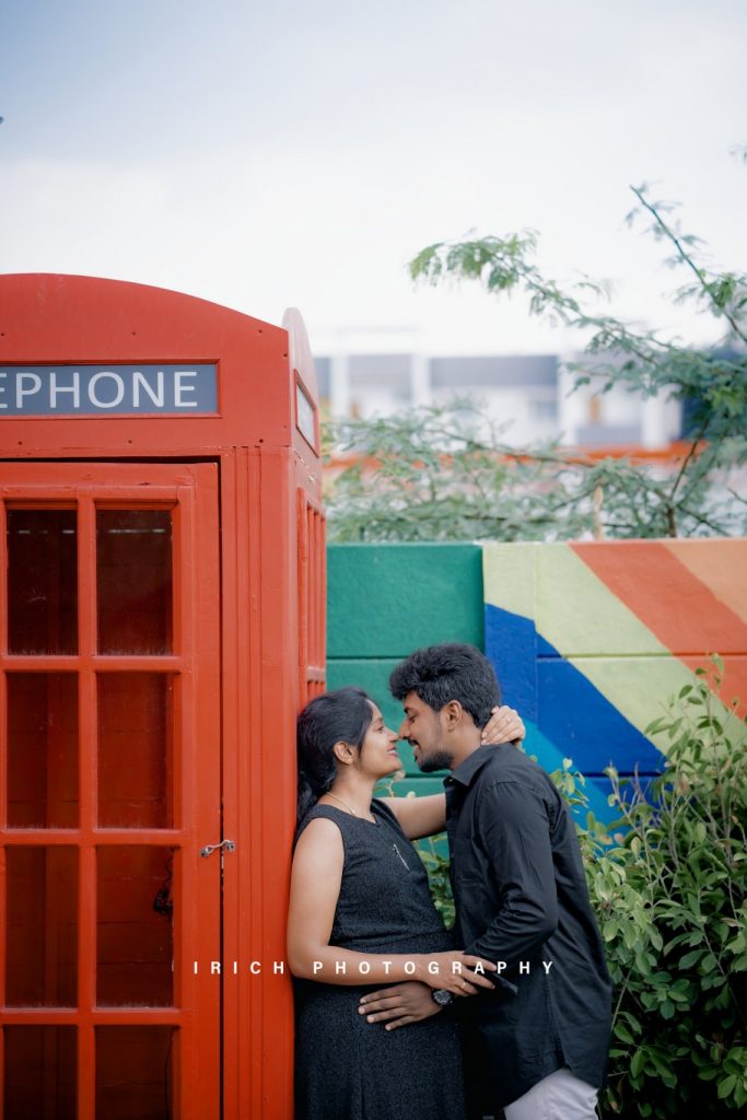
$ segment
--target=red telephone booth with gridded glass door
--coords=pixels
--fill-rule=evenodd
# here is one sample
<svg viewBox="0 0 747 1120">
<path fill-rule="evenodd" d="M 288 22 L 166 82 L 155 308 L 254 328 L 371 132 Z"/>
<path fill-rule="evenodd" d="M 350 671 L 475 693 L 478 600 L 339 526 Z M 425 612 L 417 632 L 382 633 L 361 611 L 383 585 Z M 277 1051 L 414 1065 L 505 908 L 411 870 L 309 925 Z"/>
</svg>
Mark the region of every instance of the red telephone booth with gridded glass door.
<svg viewBox="0 0 747 1120">
<path fill-rule="evenodd" d="M 283 327 L 0 277 L 4 1120 L 289 1120 L 317 390 Z"/>
</svg>

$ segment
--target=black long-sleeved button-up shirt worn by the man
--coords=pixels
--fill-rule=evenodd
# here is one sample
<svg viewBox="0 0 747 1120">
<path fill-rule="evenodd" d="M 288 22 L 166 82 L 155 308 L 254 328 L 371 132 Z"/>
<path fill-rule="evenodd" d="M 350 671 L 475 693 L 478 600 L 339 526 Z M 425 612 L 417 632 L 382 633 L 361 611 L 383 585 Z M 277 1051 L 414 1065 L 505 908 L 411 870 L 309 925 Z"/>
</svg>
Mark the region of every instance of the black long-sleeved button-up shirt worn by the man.
<svg viewBox="0 0 747 1120">
<path fill-rule="evenodd" d="M 459 1000 L 510 1104 L 561 1066 L 604 1084 L 611 983 L 568 805 L 536 763 L 478 747 L 445 780 L 456 944 L 503 983 Z M 473 1036 L 475 1037 L 475 1036 Z"/>
</svg>

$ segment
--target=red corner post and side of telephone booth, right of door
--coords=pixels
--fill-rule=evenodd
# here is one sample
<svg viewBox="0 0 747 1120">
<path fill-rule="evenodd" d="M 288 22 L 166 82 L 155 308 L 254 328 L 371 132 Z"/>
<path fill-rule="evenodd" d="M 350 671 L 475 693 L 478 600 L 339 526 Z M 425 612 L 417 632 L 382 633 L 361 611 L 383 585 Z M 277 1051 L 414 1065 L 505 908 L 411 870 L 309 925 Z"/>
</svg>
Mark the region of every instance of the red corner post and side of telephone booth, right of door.
<svg viewBox="0 0 747 1120">
<path fill-rule="evenodd" d="M 223 550 L 223 828 L 236 842 L 223 883 L 223 1116 L 291 1120 L 291 745 L 298 708 L 324 690 L 324 521 L 318 486 L 290 449 L 225 451 L 221 496 L 233 542 Z"/>
</svg>

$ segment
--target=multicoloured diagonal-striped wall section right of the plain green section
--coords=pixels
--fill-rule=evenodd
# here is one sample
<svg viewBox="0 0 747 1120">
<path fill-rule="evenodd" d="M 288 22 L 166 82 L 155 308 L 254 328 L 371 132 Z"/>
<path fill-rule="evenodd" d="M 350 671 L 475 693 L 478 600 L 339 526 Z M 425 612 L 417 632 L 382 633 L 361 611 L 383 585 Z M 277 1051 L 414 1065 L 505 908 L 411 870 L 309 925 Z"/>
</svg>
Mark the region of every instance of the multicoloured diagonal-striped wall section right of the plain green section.
<svg viewBox="0 0 747 1120">
<path fill-rule="evenodd" d="M 547 769 L 571 757 L 601 819 L 605 767 L 661 769 L 645 728 L 711 653 L 722 700 L 747 699 L 745 540 L 491 544 L 483 571 L 485 652 L 527 749 Z"/>
</svg>

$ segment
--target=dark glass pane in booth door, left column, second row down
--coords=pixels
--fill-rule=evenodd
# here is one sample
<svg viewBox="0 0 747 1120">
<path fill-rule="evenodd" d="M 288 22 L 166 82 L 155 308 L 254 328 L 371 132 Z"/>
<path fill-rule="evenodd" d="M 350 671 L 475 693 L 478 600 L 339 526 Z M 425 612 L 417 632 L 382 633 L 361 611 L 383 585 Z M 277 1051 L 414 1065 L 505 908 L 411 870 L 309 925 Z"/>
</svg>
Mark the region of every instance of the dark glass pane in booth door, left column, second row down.
<svg viewBox="0 0 747 1120">
<path fill-rule="evenodd" d="M 77 676 L 9 673 L 9 827 L 76 828 L 77 785 Z"/>
</svg>

